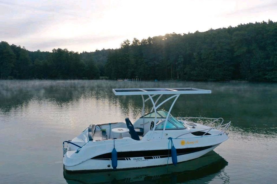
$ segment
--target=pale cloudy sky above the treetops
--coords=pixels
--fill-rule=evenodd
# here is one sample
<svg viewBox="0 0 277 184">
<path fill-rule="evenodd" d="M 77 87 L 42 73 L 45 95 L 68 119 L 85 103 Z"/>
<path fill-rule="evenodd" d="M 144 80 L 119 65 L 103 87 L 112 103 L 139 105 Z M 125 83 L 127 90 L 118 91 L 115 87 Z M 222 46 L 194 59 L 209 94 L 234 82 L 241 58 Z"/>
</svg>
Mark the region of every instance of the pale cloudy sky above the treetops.
<svg viewBox="0 0 277 184">
<path fill-rule="evenodd" d="M 125 39 L 277 21 L 277 0 L 0 0 L 0 41 L 30 51 L 115 49 Z"/>
</svg>

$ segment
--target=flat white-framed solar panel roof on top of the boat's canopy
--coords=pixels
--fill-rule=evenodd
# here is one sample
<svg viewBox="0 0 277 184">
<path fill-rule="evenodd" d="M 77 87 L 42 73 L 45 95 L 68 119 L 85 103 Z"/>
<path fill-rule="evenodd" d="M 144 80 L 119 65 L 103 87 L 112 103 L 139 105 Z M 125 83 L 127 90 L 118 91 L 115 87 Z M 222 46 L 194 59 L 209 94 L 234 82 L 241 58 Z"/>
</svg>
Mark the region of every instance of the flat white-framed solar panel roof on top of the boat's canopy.
<svg viewBox="0 0 277 184">
<path fill-rule="evenodd" d="M 211 90 L 196 88 L 129 88 L 113 89 L 115 95 L 167 95 L 167 94 L 207 94 Z"/>
</svg>

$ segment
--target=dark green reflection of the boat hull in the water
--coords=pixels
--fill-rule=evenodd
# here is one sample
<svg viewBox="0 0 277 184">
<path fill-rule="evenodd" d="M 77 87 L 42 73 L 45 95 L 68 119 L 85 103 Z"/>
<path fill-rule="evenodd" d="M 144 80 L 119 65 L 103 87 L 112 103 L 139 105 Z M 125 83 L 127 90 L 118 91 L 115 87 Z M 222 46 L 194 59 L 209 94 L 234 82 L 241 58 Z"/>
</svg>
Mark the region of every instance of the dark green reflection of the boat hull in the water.
<svg viewBox="0 0 277 184">
<path fill-rule="evenodd" d="M 215 177 L 229 182 L 222 169 L 228 165 L 216 152 L 211 151 L 194 160 L 178 163 L 177 166 L 157 166 L 131 170 L 71 173 L 64 170 L 64 178 L 69 184 L 77 183 L 206 183 Z M 201 179 L 201 180 L 200 180 Z"/>
</svg>

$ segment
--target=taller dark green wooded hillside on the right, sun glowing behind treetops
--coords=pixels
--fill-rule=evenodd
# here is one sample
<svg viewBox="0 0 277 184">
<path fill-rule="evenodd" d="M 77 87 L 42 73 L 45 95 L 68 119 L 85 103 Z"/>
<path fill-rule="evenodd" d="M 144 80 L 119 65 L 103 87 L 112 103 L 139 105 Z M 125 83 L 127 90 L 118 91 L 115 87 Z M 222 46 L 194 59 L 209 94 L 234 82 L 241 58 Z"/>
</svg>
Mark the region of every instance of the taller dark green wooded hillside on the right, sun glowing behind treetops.
<svg viewBox="0 0 277 184">
<path fill-rule="evenodd" d="M 277 81 L 277 23 L 256 22 L 206 32 L 166 34 L 108 56 L 110 78 L 190 81 Z"/>
</svg>

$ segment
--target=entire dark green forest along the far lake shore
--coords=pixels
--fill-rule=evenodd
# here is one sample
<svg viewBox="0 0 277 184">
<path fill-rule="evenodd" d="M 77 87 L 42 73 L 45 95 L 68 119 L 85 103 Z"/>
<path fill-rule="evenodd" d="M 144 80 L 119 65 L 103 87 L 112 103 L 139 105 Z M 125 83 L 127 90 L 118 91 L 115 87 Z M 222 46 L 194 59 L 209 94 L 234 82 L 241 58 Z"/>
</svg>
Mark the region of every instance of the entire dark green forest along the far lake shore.
<svg viewBox="0 0 277 184">
<path fill-rule="evenodd" d="M 0 43 L 1 79 L 277 82 L 277 22 L 128 39 L 119 49 L 28 51 Z"/>
</svg>

